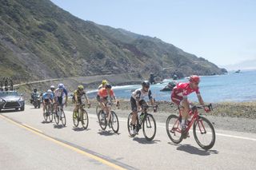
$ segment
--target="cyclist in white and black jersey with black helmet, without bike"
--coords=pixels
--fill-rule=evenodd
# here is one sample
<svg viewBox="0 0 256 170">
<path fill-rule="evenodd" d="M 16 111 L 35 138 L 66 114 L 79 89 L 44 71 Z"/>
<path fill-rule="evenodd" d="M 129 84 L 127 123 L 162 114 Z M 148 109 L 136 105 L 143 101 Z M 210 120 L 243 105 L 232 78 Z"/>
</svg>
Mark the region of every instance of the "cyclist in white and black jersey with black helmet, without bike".
<svg viewBox="0 0 256 170">
<path fill-rule="evenodd" d="M 133 126 L 133 130 L 131 132 L 132 134 L 136 134 L 138 132 L 139 127 L 136 127 L 135 124 L 139 110 L 143 108 L 143 105 L 147 105 L 146 101 L 144 100 L 145 97 L 149 98 L 150 105 L 154 105 L 154 99 L 150 90 L 150 81 L 143 81 L 142 88 L 134 90 L 134 92 L 131 94 L 130 105 L 133 112 L 133 117 L 131 121 L 131 124 Z"/>
</svg>

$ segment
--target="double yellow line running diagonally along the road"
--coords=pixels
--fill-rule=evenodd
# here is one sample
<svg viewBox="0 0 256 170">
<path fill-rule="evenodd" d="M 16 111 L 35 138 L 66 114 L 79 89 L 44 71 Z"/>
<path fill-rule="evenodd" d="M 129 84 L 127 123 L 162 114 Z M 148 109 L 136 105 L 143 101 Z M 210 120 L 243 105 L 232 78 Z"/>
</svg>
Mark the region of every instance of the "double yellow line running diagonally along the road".
<svg viewBox="0 0 256 170">
<path fill-rule="evenodd" d="M 126 168 L 122 168 L 121 166 L 117 165 L 117 164 L 113 164 L 111 163 L 110 161 L 108 160 L 104 160 L 102 159 L 101 157 L 99 156 L 94 156 L 93 154 L 89 153 L 89 152 L 85 152 L 85 151 L 82 151 L 81 149 L 79 148 L 75 148 L 73 146 L 70 146 L 69 144 L 65 144 L 61 141 L 58 141 L 58 140 L 55 140 L 54 138 L 50 137 L 50 136 L 46 136 L 45 134 L 43 134 L 41 131 L 39 131 L 38 129 L 36 128 L 32 128 L 28 125 L 21 125 L 21 124 L 18 124 L 17 122 L 15 121 L 12 121 L 10 118 L 8 117 L 4 117 L 0 114 L 0 117 L 2 117 L 3 119 L 5 119 L 6 121 L 9 121 L 10 123 L 14 124 L 14 125 L 18 125 L 19 127 L 21 128 L 25 128 L 26 130 L 30 131 L 30 132 L 33 132 L 34 134 L 38 135 L 38 136 L 41 136 L 43 138 L 45 138 L 46 140 L 50 140 L 52 142 L 54 142 L 55 144 L 59 144 L 65 148 L 69 148 L 70 150 L 73 150 L 75 152 L 78 152 L 84 156 L 87 156 L 91 159 L 94 159 L 94 160 L 98 160 L 98 162 L 101 162 L 102 164 L 106 164 L 107 166 L 110 166 L 111 168 L 114 168 L 114 169 L 118 169 L 118 170 L 124 170 Z"/>
</svg>

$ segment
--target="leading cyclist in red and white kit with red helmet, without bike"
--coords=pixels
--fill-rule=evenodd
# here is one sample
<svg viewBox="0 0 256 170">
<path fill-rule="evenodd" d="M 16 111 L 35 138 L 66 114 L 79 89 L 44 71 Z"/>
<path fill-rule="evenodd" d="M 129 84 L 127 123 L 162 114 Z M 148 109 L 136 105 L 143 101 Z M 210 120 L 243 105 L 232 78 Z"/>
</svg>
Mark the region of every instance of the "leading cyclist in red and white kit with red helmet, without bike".
<svg viewBox="0 0 256 170">
<path fill-rule="evenodd" d="M 180 109 L 182 114 L 181 127 L 183 132 L 186 130 L 186 121 L 189 118 L 190 111 L 190 102 L 188 101 L 187 96 L 190 93 L 195 92 L 197 93 L 200 105 L 205 105 L 199 92 L 199 82 L 200 77 L 198 77 L 197 75 L 192 75 L 190 76 L 190 82 L 178 83 L 178 85 L 174 87 L 171 93 L 171 101 L 178 105 L 178 108 Z M 205 107 L 204 109 L 206 113 L 210 112 L 208 107 Z"/>
</svg>

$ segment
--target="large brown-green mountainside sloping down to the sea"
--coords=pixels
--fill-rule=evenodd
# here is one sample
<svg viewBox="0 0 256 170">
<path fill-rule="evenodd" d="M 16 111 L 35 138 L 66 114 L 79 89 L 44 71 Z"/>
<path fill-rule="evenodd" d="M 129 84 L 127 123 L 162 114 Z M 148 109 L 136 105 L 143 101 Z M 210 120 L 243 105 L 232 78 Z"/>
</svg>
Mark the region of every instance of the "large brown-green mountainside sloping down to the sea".
<svg viewBox="0 0 256 170">
<path fill-rule="evenodd" d="M 226 71 L 158 38 L 83 21 L 49 0 L 1 0 L 0 64 L 1 76 L 29 80 Z"/>
</svg>

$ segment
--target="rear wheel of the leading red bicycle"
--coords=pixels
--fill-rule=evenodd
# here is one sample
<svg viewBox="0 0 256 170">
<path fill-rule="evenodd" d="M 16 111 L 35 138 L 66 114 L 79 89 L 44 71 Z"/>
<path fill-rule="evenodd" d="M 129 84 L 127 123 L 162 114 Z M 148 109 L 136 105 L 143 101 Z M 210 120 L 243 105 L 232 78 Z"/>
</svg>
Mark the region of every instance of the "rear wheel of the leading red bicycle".
<svg viewBox="0 0 256 170">
<path fill-rule="evenodd" d="M 180 123 L 176 115 L 170 115 L 166 120 L 166 132 L 174 144 L 182 142 L 182 129 L 179 124 Z"/>
</svg>

